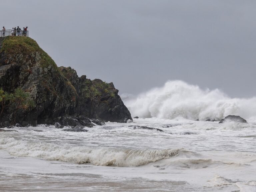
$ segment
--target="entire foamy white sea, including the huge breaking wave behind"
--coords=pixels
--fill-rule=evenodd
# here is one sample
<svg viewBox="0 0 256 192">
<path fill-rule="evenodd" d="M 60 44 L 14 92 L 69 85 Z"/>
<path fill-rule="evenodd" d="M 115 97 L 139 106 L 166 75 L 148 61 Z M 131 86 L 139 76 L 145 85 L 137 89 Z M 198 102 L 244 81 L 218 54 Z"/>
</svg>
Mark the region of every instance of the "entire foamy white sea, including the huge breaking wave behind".
<svg viewBox="0 0 256 192">
<path fill-rule="evenodd" d="M 133 122 L 4 128 L 17 132 L 0 132 L 0 191 L 256 191 L 255 98 L 182 81 L 122 97 Z"/>
</svg>

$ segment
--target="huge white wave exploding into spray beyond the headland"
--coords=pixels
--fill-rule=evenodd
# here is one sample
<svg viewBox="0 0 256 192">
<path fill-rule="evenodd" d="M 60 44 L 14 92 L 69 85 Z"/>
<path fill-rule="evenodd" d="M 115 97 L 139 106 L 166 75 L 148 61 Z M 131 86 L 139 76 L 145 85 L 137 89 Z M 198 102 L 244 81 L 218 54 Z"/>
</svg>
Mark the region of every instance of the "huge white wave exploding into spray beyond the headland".
<svg viewBox="0 0 256 192">
<path fill-rule="evenodd" d="M 227 115 L 256 119 L 256 98 L 230 98 L 220 90 L 202 90 L 183 81 L 168 81 L 133 98 L 122 96 L 132 116 L 221 120 Z"/>
</svg>

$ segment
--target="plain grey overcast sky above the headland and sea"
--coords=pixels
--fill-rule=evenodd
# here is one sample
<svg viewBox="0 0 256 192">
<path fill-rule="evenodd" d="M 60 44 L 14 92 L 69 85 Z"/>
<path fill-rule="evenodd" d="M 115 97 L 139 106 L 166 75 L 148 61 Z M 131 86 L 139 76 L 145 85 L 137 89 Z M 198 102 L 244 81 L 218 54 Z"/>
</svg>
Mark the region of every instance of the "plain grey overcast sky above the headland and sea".
<svg viewBox="0 0 256 192">
<path fill-rule="evenodd" d="M 183 80 L 256 96 L 255 0 L 1 0 L 58 66 L 138 94 Z M 1 26 L 1 27 L 2 27 Z"/>
</svg>

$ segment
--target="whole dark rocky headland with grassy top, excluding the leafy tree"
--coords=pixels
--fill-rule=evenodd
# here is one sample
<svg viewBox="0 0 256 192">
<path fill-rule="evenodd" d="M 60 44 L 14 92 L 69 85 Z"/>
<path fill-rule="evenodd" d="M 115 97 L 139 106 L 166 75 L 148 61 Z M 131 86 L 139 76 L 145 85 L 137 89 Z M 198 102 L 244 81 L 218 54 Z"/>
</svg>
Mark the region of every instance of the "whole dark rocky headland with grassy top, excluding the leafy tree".
<svg viewBox="0 0 256 192">
<path fill-rule="evenodd" d="M 1 126 L 54 124 L 56 118 L 66 115 L 114 122 L 132 120 L 113 83 L 78 77 L 70 67 L 58 68 L 28 37 L 0 38 L 0 87 L 7 93 L 21 88 L 35 103 L 27 110 L 13 109 L 6 103 Z"/>
</svg>

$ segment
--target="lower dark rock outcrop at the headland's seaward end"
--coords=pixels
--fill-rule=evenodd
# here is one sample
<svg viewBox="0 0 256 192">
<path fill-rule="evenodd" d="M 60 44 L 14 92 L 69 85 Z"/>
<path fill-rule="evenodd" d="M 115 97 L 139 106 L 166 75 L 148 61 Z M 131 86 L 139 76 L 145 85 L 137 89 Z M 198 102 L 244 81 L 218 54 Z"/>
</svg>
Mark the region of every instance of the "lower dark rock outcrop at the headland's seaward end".
<svg viewBox="0 0 256 192">
<path fill-rule="evenodd" d="M 128 119 L 132 120 L 130 112 L 123 104 L 113 83 L 105 83 L 100 79 L 91 81 L 86 79 L 85 75 L 79 78 L 71 67 L 59 69 L 77 90 L 77 114 L 120 123 Z"/>
</svg>

